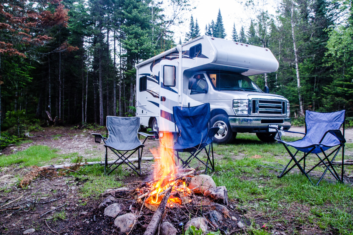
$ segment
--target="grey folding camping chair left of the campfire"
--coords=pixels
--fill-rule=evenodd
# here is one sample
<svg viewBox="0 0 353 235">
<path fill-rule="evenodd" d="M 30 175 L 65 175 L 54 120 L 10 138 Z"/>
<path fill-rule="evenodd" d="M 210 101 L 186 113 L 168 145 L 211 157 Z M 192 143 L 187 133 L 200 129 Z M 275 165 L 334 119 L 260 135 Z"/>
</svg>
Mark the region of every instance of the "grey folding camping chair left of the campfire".
<svg viewBox="0 0 353 235">
<path fill-rule="evenodd" d="M 92 133 L 91 135 L 95 136 L 95 142 L 101 143 L 101 140 L 104 142 L 104 147 L 106 147 L 106 157 L 104 162 L 104 173 L 106 174 L 107 168 L 113 166 L 118 160 L 121 162 L 112 169 L 112 173 L 116 168 L 118 168 L 122 163 L 126 163 L 131 169 L 133 169 L 138 175 L 141 175 L 141 159 L 143 144 L 148 137 L 153 135 L 148 135 L 143 132 L 138 132 L 140 128 L 140 118 L 139 117 L 114 117 L 107 116 L 107 137 L 103 137 L 101 134 Z M 109 135 L 108 135 L 109 134 Z M 137 134 L 145 136 L 143 143 L 137 137 Z M 108 148 L 118 156 L 118 159 L 108 166 Z M 141 149 L 141 153 L 140 153 Z M 127 157 L 125 154 L 132 151 Z M 138 151 L 138 167 L 135 166 L 131 161 L 128 160 L 132 154 Z M 123 153 L 125 152 L 125 153 Z M 130 165 L 130 164 L 131 165 Z M 139 170 L 139 172 L 136 171 Z"/>
</svg>

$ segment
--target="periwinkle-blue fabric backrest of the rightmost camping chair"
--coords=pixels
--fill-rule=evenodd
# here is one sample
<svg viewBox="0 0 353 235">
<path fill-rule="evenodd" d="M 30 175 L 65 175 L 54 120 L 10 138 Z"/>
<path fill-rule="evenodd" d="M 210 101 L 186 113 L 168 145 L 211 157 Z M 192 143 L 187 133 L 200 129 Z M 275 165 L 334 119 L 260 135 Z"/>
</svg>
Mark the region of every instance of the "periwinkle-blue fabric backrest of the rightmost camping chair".
<svg viewBox="0 0 353 235">
<path fill-rule="evenodd" d="M 303 140 L 307 140 L 311 143 L 319 143 L 327 131 L 340 129 L 345 120 L 345 113 L 346 110 L 331 113 L 319 113 L 306 110 L 306 135 Z M 327 146 L 333 146 L 333 144 L 339 144 L 339 141 L 334 135 L 328 133 L 321 143 Z"/>
</svg>

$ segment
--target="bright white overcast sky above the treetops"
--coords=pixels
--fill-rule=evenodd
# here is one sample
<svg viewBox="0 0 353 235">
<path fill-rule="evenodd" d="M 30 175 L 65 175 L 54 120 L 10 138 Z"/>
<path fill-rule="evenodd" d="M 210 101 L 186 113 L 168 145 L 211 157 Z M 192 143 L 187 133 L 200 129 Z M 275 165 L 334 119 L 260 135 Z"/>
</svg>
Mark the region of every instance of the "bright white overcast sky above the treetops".
<svg viewBox="0 0 353 235">
<path fill-rule="evenodd" d="M 254 0 L 254 2 L 258 9 L 263 8 L 269 14 L 276 14 L 277 0 Z M 179 42 L 179 37 L 181 37 L 182 42 L 185 41 L 185 33 L 189 30 L 191 15 L 194 21 L 197 19 L 201 35 L 204 35 L 206 24 L 211 23 L 211 20 L 216 21 L 218 10 L 220 9 L 227 34 L 226 39 L 231 39 L 234 23 L 235 29 L 239 34 L 241 26 L 243 25 L 247 29 L 250 25 L 250 20 L 256 17 L 255 11 L 246 7 L 241 0 L 195 0 L 192 7 L 195 7 L 195 9 L 184 13 L 184 23 L 172 28 L 175 32 L 174 41 L 176 43 Z"/>
</svg>

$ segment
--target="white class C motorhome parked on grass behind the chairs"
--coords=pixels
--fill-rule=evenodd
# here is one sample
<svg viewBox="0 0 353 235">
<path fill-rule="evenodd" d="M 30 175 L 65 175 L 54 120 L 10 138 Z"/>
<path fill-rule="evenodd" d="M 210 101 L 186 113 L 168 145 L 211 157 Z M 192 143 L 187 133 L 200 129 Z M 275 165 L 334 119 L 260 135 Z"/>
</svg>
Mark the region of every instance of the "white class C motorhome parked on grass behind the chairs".
<svg viewBox="0 0 353 235">
<path fill-rule="evenodd" d="M 136 64 L 136 116 L 152 130 L 175 131 L 173 106 L 210 103 L 216 143 L 237 132 L 274 141 L 274 126 L 291 127 L 288 100 L 263 92 L 248 76 L 272 73 L 278 61 L 270 49 L 200 36 Z"/>
</svg>

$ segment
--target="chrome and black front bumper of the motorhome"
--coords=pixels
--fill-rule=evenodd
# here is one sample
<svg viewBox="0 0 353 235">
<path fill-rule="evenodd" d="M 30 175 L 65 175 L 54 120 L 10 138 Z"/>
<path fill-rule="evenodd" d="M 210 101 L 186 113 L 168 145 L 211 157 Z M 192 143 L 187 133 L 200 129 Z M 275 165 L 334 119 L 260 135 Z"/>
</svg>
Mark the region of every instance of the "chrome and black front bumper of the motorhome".
<svg viewBox="0 0 353 235">
<path fill-rule="evenodd" d="M 288 117 L 228 117 L 233 132 L 268 132 L 268 125 L 283 126 L 284 130 L 291 128 L 291 118 Z"/>
</svg>

